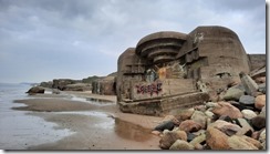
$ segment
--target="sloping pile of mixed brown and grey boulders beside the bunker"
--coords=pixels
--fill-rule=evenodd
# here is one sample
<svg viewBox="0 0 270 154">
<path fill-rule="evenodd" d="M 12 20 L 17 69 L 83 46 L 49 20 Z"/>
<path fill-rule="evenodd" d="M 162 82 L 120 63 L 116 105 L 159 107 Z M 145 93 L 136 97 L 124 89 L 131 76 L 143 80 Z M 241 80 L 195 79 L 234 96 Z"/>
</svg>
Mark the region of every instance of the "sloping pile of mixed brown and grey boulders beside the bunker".
<svg viewBox="0 0 270 154">
<path fill-rule="evenodd" d="M 239 75 L 241 82 L 220 93 L 219 101 L 166 115 L 153 131 L 159 147 L 266 150 L 266 80 Z"/>
</svg>

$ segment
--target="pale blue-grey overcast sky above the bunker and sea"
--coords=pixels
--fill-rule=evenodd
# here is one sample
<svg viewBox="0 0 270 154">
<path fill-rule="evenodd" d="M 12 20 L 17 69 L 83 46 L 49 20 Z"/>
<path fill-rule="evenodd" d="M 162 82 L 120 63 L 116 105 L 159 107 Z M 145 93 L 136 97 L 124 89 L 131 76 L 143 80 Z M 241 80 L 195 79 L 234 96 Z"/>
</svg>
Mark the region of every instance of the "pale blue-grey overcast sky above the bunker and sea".
<svg viewBox="0 0 270 154">
<path fill-rule="evenodd" d="M 0 82 L 107 75 L 143 37 L 198 25 L 266 53 L 264 0 L 0 0 Z"/>
</svg>

